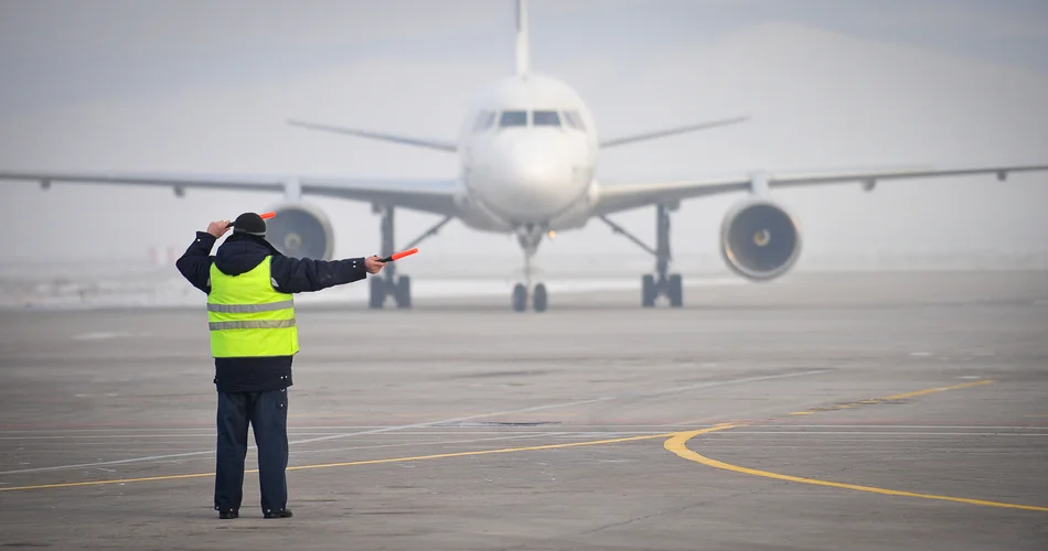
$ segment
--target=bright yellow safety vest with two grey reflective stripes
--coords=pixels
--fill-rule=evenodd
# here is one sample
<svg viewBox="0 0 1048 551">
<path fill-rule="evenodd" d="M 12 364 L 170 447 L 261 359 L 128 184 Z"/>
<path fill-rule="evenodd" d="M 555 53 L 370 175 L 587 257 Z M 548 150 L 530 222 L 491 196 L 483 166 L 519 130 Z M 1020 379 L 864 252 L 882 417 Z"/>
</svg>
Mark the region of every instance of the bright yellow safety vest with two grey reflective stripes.
<svg viewBox="0 0 1048 551">
<path fill-rule="evenodd" d="M 291 356 L 299 350 L 295 301 L 291 294 L 272 288 L 271 260 L 266 257 L 239 276 L 226 276 L 211 264 L 207 325 L 212 356 Z"/>
</svg>

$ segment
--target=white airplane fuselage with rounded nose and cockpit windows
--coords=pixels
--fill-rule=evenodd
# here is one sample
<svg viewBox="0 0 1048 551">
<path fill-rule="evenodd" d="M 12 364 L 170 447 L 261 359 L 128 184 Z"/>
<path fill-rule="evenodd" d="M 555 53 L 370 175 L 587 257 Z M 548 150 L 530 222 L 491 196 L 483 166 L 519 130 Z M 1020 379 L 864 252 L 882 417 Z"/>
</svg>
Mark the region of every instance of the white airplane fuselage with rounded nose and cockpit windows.
<svg viewBox="0 0 1048 551">
<path fill-rule="evenodd" d="M 581 227 L 598 186 L 593 118 L 555 78 L 506 77 L 479 96 L 459 133 L 462 222 L 486 231 Z"/>
</svg>

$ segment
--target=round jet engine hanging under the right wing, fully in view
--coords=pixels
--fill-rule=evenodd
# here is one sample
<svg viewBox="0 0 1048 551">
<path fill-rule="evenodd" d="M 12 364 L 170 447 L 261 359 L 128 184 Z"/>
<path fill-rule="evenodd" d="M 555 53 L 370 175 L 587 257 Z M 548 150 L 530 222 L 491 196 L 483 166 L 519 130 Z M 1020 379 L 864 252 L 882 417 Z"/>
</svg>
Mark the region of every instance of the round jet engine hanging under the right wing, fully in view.
<svg viewBox="0 0 1048 551">
<path fill-rule="evenodd" d="M 801 231 L 793 217 L 774 203 L 744 201 L 724 217 L 720 255 L 739 276 L 768 281 L 796 262 L 801 256 Z"/>
</svg>

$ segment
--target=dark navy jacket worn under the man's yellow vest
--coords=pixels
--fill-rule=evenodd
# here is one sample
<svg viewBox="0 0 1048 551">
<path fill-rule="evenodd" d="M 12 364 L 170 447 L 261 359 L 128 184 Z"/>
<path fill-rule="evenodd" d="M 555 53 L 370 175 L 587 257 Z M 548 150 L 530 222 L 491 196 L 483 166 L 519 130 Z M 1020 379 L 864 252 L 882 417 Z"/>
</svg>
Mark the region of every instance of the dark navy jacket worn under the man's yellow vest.
<svg viewBox="0 0 1048 551">
<path fill-rule="evenodd" d="M 197 231 L 196 239 L 175 262 L 179 272 L 204 293 L 211 293 L 211 264 L 227 276 L 254 269 L 267 256 L 274 289 L 281 293 L 304 293 L 360 281 L 367 277 L 363 258 L 312 260 L 281 255 L 268 241 L 247 234 L 232 234 L 211 255 L 215 237 Z M 220 392 L 276 390 L 291 386 L 291 356 L 215 358 L 215 386 Z"/>
</svg>

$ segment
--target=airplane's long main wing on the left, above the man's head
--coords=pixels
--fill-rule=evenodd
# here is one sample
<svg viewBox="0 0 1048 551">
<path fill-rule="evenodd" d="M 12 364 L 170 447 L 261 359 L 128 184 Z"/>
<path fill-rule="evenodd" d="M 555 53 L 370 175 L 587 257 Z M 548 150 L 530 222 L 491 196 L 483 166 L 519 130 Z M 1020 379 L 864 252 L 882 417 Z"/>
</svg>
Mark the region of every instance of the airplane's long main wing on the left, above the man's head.
<svg viewBox="0 0 1048 551">
<path fill-rule="evenodd" d="M 379 203 L 443 216 L 456 215 L 456 180 L 388 180 L 324 176 L 162 174 L 114 172 L 0 171 L 0 180 L 39 182 L 47 190 L 54 182 L 170 187 L 177 196 L 188 188 L 277 192 L 319 197 L 341 197 Z"/>
</svg>

